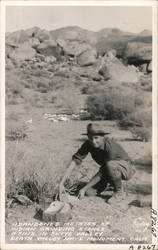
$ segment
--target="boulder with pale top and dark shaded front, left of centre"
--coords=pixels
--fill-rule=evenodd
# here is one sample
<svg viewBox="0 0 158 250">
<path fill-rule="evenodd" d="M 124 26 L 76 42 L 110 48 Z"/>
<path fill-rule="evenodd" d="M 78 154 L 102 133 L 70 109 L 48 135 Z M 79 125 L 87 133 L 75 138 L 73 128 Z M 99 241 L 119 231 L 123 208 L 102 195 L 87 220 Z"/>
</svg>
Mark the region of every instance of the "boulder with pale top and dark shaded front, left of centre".
<svg viewBox="0 0 158 250">
<path fill-rule="evenodd" d="M 45 56 L 54 56 L 59 58 L 62 49 L 54 40 L 46 40 L 37 47 L 37 51 Z"/>
</svg>

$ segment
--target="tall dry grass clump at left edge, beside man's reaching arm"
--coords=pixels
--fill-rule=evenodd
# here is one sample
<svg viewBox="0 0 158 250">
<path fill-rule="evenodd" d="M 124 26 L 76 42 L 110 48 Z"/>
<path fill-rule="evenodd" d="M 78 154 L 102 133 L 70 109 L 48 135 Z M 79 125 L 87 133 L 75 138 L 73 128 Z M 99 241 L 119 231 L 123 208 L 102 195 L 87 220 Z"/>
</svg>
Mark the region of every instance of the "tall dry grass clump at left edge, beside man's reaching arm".
<svg viewBox="0 0 158 250">
<path fill-rule="evenodd" d="M 28 148 L 25 143 L 17 141 L 9 144 L 6 155 L 8 198 L 23 194 L 39 202 L 43 197 L 56 194 L 62 171 L 53 167 L 50 153 L 39 147 L 38 150 Z"/>
</svg>

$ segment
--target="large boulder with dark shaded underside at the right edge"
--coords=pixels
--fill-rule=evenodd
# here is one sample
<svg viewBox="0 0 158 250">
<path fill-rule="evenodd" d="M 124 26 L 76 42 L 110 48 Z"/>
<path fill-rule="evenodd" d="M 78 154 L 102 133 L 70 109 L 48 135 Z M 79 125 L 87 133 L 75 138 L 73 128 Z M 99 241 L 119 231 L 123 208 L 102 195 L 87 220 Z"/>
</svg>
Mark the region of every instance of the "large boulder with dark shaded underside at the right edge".
<svg viewBox="0 0 158 250">
<path fill-rule="evenodd" d="M 124 57 L 129 61 L 148 62 L 152 59 L 152 44 L 142 42 L 129 42 L 124 50 Z"/>
</svg>

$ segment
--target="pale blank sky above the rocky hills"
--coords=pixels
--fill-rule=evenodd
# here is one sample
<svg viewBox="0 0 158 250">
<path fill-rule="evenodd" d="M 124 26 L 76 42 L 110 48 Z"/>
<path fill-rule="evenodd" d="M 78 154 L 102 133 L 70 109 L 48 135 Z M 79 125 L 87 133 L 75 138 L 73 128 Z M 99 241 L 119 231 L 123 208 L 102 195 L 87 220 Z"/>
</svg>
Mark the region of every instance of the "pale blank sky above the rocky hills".
<svg viewBox="0 0 158 250">
<path fill-rule="evenodd" d="M 38 26 L 54 30 L 65 26 L 98 31 L 118 28 L 138 33 L 152 30 L 150 6 L 7 6 L 6 31 Z"/>
</svg>

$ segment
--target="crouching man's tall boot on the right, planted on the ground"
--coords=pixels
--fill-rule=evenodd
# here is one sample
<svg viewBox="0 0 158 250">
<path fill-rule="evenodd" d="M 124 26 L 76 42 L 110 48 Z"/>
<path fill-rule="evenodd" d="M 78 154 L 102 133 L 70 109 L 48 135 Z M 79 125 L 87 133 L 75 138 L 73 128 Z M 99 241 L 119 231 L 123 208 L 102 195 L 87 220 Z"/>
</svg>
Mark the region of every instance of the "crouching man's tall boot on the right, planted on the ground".
<svg viewBox="0 0 158 250">
<path fill-rule="evenodd" d="M 109 204 L 116 204 L 125 199 L 125 192 L 123 191 L 122 179 L 121 176 L 117 178 L 113 178 L 112 180 L 114 186 L 113 196 L 108 200 Z"/>
</svg>

